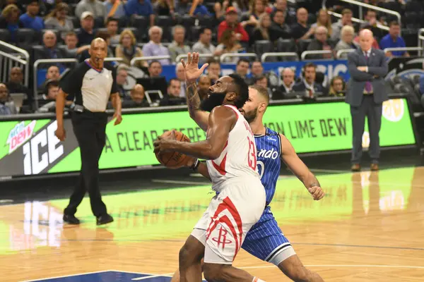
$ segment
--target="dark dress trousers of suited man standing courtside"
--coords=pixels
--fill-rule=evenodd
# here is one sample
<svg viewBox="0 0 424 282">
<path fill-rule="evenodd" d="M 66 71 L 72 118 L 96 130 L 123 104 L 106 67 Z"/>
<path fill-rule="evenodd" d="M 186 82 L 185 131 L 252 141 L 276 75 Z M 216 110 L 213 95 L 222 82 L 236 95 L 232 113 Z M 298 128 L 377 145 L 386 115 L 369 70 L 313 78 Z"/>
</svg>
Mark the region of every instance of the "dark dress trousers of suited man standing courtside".
<svg viewBox="0 0 424 282">
<path fill-rule="evenodd" d="M 365 128 L 365 116 L 368 118 L 368 131 L 370 133 L 370 155 L 372 164 L 378 164 L 379 160 L 379 130 L 382 125 L 381 103 L 376 104 L 374 97 L 371 95 L 363 95 L 363 101 L 360 106 L 351 106 L 352 129 L 353 129 L 353 146 L 352 146 L 352 164 L 360 164 L 363 147 L 363 133 Z"/>
</svg>

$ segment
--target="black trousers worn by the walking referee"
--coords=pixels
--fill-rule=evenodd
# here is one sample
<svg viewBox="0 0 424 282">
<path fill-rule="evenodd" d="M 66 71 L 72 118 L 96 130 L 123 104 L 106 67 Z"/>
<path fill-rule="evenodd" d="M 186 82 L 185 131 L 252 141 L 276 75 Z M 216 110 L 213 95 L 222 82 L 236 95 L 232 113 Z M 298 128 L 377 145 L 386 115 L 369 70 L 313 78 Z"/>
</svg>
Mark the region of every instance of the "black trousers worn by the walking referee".
<svg viewBox="0 0 424 282">
<path fill-rule="evenodd" d="M 81 150 L 81 171 L 64 214 L 75 214 L 76 208 L 88 190 L 93 214 L 96 217 L 102 216 L 107 214 L 107 210 L 100 195 L 98 176 L 99 159 L 106 141 L 107 114 L 90 111 L 73 112 L 71 118 L 73 133 Z"/>
</svg>

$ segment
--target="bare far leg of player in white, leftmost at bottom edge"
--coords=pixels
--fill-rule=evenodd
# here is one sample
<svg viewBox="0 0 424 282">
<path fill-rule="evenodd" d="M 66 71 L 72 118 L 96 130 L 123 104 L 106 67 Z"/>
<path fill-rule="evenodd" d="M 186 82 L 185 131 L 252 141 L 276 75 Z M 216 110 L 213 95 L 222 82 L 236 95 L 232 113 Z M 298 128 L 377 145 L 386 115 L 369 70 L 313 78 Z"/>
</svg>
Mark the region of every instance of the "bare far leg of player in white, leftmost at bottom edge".
<svg viewBox="0 0 424 282">
<path fill-rule="evenodd" d="M 195 234 L 204 232 L 200 229 L 193 231 Z M 205 246 L 193 233 L 179 250 L 179 274 L 174 274 L 171 281 L 201 281 L 201 259 L 204 257 Z"/>
</svg>

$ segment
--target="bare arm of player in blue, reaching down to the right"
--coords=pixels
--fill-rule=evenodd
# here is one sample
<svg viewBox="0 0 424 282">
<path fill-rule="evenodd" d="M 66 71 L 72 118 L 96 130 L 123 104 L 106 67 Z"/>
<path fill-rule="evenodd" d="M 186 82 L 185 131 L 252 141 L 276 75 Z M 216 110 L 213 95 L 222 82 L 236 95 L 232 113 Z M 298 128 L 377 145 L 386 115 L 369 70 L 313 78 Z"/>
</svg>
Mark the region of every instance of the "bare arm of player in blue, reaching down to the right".
<svg viewBox="0 0 424 282">
<path fill-rule="evenodd" d="M 281 136 L 281 159 L 287 164 L 290 171 L 292 171 L 300 181 L 302 181 L 305 188 L 310 192 L 314 200 L 320 200 L 324 197 L 324 191 L 319 184 L 319 181 L 314 174 L 307 168 L 305 163 L 298 157 L 295 149 L 290 144 L 287 138 Z"/>
</svg>

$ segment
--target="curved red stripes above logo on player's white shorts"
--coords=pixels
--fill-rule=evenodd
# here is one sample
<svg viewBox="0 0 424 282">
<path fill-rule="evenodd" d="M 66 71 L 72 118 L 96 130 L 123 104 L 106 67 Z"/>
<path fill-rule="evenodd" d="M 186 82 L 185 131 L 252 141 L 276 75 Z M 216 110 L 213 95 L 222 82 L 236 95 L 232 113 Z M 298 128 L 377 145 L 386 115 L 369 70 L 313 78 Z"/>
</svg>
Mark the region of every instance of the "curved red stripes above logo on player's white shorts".
<svg viewBox="0 0 424 282">
<path fill-rule="evenodd" d="M 230 221 L 227 215 L 223 215 L 216 220 L 219 216 L 219 214 L 225 209 L 230 212 L 232 219 L 235 220 L 236 226 Z M 240 250 L 240 247 L 242 245 L 242 236 L 243 236 L 243 228 L 242 228 L 242 218 L 240 217 L 239 212 L 235 208 L 235 205 L 232 203 L 229 197 L 226 197 L 222 203 L 218 205 L 216 208 L 215 214 L 213 214 L 211 223 L 208 226 L 208 229 L 206 230 L 206 240 L 208 240 L 209 236 L 211 235 L 212 231 L 216 229 L 216 226 L 218 226 L 218 223 L 225 223 L 228 228 L 230 228 L 230 231 L 232 233 L 232 236 L 235 239 L 235 254 L 232 260 L 235 259 L 235 256 L 237 255 L 237 252 Z M 237 236 L 237 232 L 235 231 L 235 228 L 238 229 L 239 235 Z"/>
</svg>

